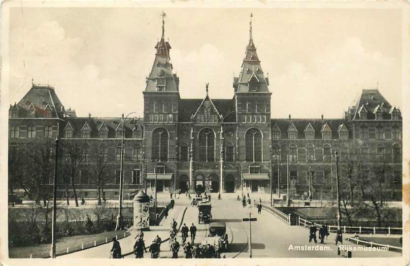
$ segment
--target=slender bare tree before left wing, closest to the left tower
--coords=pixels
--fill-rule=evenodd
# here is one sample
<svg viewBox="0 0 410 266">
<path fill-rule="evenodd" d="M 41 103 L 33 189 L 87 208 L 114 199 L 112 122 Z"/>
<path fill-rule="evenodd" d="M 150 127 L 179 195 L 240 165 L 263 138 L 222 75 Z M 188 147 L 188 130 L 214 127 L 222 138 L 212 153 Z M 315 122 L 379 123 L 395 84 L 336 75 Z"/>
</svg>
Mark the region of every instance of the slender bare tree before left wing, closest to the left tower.
<svg viewBox="0 0 410 266">
<path fill-rule="evenodd" d="M 91 179 L 97 185 L 97 199 L 100 205 L 101 195 L 104 194 L 104 185 L 109 181 L 112 166 L 107 163 L 107 148 L 103 145 L 95 147 L 91 157 Z"/>
</svg>

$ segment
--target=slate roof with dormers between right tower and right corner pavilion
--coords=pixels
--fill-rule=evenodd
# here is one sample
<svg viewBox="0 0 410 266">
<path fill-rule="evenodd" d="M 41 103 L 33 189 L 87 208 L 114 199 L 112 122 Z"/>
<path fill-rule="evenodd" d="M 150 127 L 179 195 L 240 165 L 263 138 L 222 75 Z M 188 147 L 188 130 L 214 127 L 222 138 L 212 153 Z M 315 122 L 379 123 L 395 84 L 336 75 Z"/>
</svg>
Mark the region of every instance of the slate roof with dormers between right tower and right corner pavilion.
<svg viewBox="0 0 410 266">
<path fill-rule="evenodd" d="M 339 128 L 342 124 L 345 124 L 344 119 L 271 119 L 272 128 L 277 125 L 281 133 L 287 133 L 290 126 L 293 124 L 298 130 L 298 138 L 305 138 L 305 129 L 309 123 L 314 130 L 315 138 L 321 139 L 322 128 L 327 124 L 332 131 L 332 138 L 339 138 Z"/>
</svg>

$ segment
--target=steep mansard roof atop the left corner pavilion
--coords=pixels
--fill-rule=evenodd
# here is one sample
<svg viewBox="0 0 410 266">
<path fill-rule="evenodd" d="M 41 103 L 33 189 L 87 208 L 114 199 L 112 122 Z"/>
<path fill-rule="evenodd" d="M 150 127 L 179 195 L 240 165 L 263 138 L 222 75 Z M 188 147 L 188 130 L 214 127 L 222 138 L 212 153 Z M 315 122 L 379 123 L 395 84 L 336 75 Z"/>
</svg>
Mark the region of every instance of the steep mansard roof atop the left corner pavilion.
<svg viewBox="0 0 410 266">
<path fill-rule="evenodd" d="M 64 109 L 64 105 L 61 103 L 60 99 L 53 87 L 50 85 L 40 85 L 33 84 L 32 88 L 27 92 L 27 94 L 17 103 L 21 117 L 28 116 L 28 110 L 33 104 L 36 117 L 43 117 L 45 107 L 47 104 L 52 109 L 52 117 L 63 118 L 67 117 L 68 114 Z"/>
</svg>

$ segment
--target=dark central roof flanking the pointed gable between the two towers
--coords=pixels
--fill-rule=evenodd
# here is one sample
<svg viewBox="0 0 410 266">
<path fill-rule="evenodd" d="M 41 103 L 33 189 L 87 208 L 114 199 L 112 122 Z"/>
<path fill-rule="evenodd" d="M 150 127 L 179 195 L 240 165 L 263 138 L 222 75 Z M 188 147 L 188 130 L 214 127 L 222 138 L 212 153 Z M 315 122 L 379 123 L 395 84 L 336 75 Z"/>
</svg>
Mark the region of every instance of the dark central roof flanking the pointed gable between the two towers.
<svg viewBox="0 0 410 266">
<path fill-rule="evenodd" d="M 191 122 L 191 115 L 194 115 L 204 99 L 180 99 L 178 104 L 178 122 Z M 224 117 L 228 115 L 224 122 L 236 122 L 235 102 L 232 99 L 210 99 L 215 108 Z"/>
</svg>

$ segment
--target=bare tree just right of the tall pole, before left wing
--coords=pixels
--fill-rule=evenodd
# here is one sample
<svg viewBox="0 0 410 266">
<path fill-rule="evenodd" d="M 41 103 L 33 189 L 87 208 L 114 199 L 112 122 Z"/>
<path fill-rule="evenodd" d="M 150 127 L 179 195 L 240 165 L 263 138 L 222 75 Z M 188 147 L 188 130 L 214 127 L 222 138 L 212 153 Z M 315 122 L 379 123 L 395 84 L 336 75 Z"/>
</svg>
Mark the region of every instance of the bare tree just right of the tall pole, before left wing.
<svg viewBox="0 0 410 266">
<path fill-rule="evenodd" d="M 66 184 L 67 201 L 68 201 L 68 182 L 74 193 L 75 206 L 78 207 L 78 198 L 75 191 L 75 180 L 78 178 L 80 167 L 84 163 L 83 148 L 79 143 L 65 142 L 63 148 L 63 181 Z M 68 203 L 69 204 L 69 203 Z"/>
</svg>

